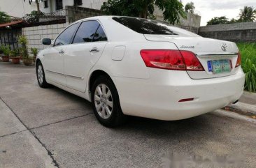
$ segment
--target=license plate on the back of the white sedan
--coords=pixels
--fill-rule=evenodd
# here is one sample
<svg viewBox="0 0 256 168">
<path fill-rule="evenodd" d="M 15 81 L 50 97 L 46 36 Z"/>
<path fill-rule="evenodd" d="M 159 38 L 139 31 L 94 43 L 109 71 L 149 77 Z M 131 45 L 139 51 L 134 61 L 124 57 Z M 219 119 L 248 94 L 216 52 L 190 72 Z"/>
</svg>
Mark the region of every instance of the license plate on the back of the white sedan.
<svg viewBox="0 0 256 168">
<path fill-rule="evenodd" d="M 213 74 L 230 72 L 232 70 L 232 61 L 230 59 L 208 61 L 208 70 Z"/>
</svg>

